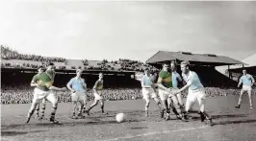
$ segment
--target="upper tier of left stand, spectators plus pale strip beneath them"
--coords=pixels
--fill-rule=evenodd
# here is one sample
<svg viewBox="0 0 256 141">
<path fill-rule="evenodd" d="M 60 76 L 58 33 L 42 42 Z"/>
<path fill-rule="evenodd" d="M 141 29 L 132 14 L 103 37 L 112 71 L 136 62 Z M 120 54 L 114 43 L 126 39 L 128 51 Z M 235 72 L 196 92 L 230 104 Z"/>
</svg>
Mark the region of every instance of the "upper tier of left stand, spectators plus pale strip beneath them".
<svg viewBox="0 0 256 141">
<path fill-rule="evenodd" d="M 13 68 L 38 68 L 39 65 L 45 65 L 47 62 L 54 62 L 57 69 L 77 69 L 85 68 L 88 70 L 116 70 L 116 71 L 142 71 L 146 65 L 138 60 L 119 59 L 108 61 L 88 60 L 88 59 L 63 59 L 63 58 L 45 58 L 37 55 L 23 55 L 8 47 L 1 45 L 1 67 Z"/>
</svg>

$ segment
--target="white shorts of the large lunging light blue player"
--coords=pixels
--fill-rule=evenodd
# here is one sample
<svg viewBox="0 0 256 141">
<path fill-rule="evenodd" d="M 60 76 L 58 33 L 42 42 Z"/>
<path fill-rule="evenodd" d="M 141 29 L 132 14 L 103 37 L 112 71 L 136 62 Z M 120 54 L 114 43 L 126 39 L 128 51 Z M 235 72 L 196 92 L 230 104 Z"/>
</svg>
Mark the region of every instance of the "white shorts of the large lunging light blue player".
<svg viewBox="0 0 256 141">
<path fill-rule="evenodd" d="M 202 99 L 205 99 L 205 90 L 204 88 L 198 88 L 196 90 L 189 89 L 189 94 L 187 97 L 187 102 L 194 103 L 196 100 L 199 102 Z"/>
</svg>

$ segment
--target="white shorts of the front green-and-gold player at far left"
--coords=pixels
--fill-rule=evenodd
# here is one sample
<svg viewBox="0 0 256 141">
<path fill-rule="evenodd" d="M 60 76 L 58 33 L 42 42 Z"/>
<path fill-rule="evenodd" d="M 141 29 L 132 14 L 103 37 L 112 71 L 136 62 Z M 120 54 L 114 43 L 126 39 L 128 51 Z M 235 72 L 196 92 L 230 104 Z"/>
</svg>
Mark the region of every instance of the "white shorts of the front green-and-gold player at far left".
<svg viewBox="0 0 256 141">
<path fill-rule="evenodd" d="M 52 104 L 58 103 L 58 97 L 52 90 L 43 91 L 38 88 L 35 88 L 33 103 L 40 103 L 43 99 L 47 99 Z"/>
</svg>

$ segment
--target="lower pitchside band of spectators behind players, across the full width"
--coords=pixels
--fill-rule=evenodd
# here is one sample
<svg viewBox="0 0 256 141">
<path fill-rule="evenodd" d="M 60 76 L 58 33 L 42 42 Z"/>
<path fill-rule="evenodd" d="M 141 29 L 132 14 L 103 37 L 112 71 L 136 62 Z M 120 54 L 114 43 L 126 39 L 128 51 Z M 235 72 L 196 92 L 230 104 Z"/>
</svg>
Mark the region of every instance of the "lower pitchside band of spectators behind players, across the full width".
<svg viewBox="0 0 256 141">
<path fill-rule="evenodd" d="M 218 88 L 206 87 L 206 95 L 208 97 L 239 95 L 240 89 L 237 88 Z M 256 89 L 253 88 L 252 95 L 255 95 Z M 60 103 L 71 102 L 71 94 L 69 91 L 56 92 Z M 184 91 L 182 96 L 186 98 L 188 91 Z M 94 99 L 92 90 L 88 89 L 88 101 Z M 103 97 L 107 101 L 118 100 L 139 100 L 142 99 L 141 88 L 107 88 L 103 90 Z M 10 104 L 29 104 L 33 99 L 33 87 L 29 85 L 7 86 L 2 85 L 1 103 L 3 105 Z"/>
</svg>

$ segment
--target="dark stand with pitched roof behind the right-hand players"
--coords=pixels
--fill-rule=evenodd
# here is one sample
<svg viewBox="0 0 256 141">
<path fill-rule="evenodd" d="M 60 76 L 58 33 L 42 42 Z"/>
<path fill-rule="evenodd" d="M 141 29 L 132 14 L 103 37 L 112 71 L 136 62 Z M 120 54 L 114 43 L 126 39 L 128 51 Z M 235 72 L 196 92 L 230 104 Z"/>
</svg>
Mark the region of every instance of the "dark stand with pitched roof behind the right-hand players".
<svg viewBox="0 0 256 141">
<path fill-rule="evenodd" d="M 192 64 L 192 70 L 197 72 L 201 82 L 205 86 L 216 87 L 237 86 L 237 82 L 234 82 L 230 78 L 219 73 L 215 68 L 216 66 L 244 64 L 242 61 L 236 59 L 231 59 L 228 57 L 217 56 L 212 54 L 192 54 L 190 52 L 166 51 L 159 51 L 150 59 L 147 59 L 146 63 L 161 68 L 161 64 L 163 62 L 169 63 L 172 60 L 176 61 L 178 64 L 183 60 L 189 60 Z M 179 65 L 178 72 L 181 73 Z"/>
</svg>

